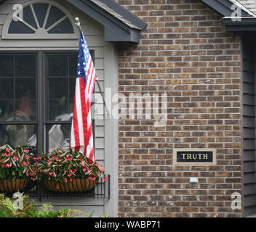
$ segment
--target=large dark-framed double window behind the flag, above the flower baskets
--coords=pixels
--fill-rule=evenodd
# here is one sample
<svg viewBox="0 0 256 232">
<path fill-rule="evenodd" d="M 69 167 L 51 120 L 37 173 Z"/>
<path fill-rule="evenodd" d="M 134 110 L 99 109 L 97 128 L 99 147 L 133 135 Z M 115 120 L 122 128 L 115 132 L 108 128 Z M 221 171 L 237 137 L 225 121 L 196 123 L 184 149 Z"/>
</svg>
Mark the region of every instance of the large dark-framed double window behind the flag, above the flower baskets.
<svg viewBox="0 0 256 232">
<path fill-rule="evenodd" d="M 0 54 L 0 145 L 69 149 L 77 55 Z"/>
</svg>

